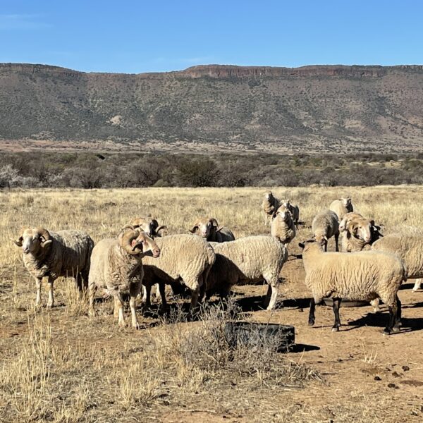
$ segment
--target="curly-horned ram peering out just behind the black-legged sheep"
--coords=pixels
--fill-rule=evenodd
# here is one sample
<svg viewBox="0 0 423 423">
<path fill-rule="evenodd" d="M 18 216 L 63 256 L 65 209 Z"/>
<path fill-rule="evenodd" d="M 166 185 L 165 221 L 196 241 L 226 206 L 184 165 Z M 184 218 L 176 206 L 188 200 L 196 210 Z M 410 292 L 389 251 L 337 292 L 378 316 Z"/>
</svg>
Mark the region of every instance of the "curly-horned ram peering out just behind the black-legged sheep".
<svg viewBox="0 0 423 423">
<path fill-rule="evenodd" d="M 380 226 L 376 226 L 374 220 L 364 219 L 361 214 L 345 214 L 339 223 L 341 251 L 369 250 L 372 243 L 382 236 L 379 229 Z"/>
</svg>

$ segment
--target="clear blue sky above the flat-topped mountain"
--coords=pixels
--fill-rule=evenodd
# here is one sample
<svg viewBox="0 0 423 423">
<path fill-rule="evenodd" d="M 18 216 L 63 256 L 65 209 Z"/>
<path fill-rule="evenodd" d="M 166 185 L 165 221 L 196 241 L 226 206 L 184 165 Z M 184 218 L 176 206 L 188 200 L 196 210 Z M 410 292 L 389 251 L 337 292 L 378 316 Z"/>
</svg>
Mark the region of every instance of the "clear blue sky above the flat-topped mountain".
<svg viewBox="0 0 423 423">
<path fill-rule="evenodd" d="M 142 73 L 198 64 L 422 64 L 420 0 L 0 0 L 0 62 Z"/>
</svg>

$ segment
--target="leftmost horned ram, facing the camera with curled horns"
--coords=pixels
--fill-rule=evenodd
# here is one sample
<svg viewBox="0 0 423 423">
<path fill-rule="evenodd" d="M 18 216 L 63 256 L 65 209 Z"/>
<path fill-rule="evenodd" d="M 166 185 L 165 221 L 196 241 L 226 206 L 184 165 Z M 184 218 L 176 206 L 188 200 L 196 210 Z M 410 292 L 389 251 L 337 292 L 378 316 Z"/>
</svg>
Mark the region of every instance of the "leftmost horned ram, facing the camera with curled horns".
<svg viewBox="0 0 423 423">
<path fill-rule="evenodd" d="M 13 243 L 23 249 L 23 263 L 35 278 L 37 297 L 35 305 L 41 305 L 41 282 L 48 277 L 49 300 L 54 306 L 53 284 L 60 276 L 73 277 L 78 290 L 88 286 L 90 256 L 94 241 L 82 231 L 47 231 L 45 228 L 25 228 Z"/>
</svg>

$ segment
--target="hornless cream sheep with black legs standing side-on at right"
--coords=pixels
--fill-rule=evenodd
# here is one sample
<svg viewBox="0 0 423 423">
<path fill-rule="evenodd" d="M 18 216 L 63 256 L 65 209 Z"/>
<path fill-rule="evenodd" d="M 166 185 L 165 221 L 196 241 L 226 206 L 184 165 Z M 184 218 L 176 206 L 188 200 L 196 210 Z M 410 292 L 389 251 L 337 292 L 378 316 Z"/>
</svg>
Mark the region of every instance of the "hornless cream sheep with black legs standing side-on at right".
<svg viewBox="0 0 423 423">
<path fill-rule="evenodd" d="M 314 309 L 324 298 L 333 298 L 335 322 L 341 326 L 339 305 L 342 298 L 370 301 L 381 298 L 389 307 L 389 322 L 384 334 L 400 331 L 401 302 L 398 289 L 407 279 L 401 260 L 379 251 L 323 252 L 314 240 L 300 243 L 305 268 L 305 284 L 312 291 L 309 325 L 314 325 Z"/>
</svg>

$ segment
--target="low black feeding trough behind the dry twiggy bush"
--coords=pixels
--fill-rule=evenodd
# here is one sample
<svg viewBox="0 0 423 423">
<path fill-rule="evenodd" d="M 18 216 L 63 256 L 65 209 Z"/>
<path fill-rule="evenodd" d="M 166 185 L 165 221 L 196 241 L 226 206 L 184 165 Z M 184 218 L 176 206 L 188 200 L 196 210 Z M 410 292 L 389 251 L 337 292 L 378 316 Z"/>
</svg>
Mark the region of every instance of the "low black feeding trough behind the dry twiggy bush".
<svg viewBox="0 0 423 423">
<path fill-rule="evenodd" d="M 231 347 L 247 345 L 250 348 L 269 346 L 286 351 L 295 344 L 295 328 L 284 324 L 228 321 L 225 325 L 226 341 Z"/>
</svg>

